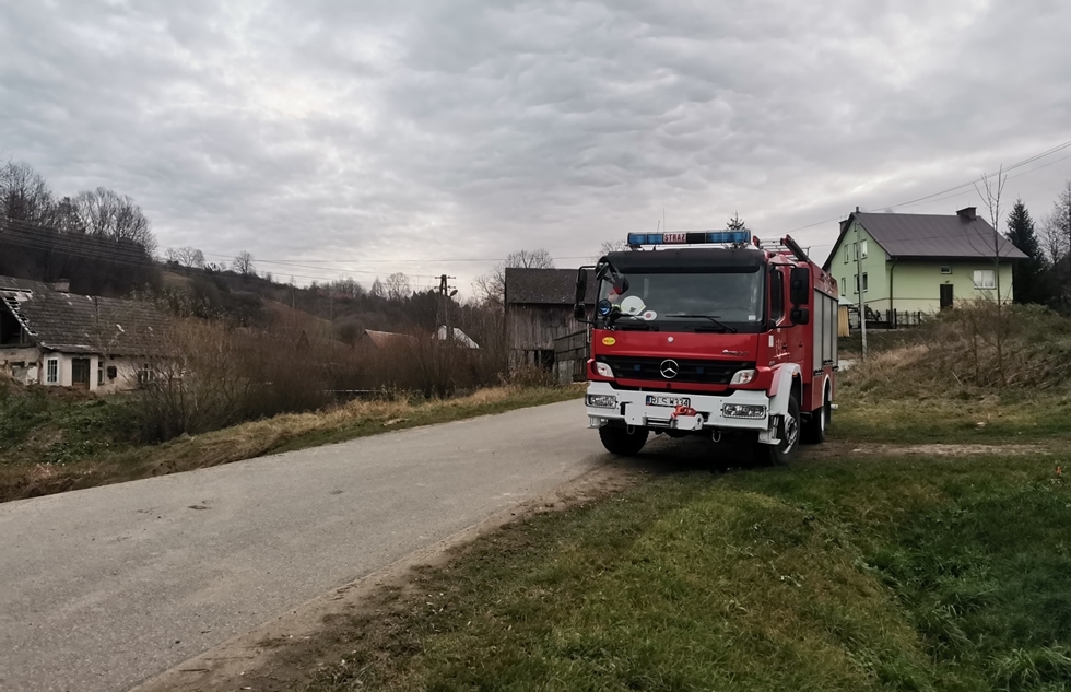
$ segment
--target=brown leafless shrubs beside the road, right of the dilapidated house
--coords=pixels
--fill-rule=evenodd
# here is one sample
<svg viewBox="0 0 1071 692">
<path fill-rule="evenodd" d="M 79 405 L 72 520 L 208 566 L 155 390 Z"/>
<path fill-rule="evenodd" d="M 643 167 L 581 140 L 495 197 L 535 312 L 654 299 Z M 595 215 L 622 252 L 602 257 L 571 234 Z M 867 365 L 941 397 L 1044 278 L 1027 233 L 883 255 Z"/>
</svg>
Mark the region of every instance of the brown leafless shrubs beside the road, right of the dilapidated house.
<svg viewBox="0 0 1071 692">
<path fill-rule="evenodd" d="M 199 434 L 248 420 L 311 411 L 339 391 L 401 390 L 448 397 L 497 384 L 496 361 L 482 350 L 401 335 L 381 347 L 348 345 L 301 322 L 235 328 L 175 320 L 140 391 L 146 441 Z"/>
</svg>

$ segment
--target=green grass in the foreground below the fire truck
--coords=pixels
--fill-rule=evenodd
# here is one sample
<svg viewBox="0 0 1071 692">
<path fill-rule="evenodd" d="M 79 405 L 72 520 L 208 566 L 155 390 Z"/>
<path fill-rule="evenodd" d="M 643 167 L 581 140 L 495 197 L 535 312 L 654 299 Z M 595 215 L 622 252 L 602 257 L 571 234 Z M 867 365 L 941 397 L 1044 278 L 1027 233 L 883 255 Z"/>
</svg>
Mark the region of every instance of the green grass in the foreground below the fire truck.
<svg viewBox="0 0 1071 692">
<path fill-rule="evenodd" d="M 659 473 L 424 572 L 307 689 L 1071 690 L 1069 526 L 1050 458 Z"/>
</svg>

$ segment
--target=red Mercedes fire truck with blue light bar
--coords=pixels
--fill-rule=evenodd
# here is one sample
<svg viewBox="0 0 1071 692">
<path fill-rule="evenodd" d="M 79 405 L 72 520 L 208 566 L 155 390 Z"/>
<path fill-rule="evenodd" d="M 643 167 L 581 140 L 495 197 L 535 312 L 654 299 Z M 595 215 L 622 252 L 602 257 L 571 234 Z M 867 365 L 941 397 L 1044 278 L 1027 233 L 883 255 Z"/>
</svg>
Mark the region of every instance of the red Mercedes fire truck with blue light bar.
<svg viewBox="0 0 1071 692">
<path fill-rule="evenodd" d="M 577 274 L 591 325 L 586 406 L 605 448 L 635 455 L 651 432 L 743 437 L 786 464 L 822 442 L 836 408 L 836 281 L 790 237 L 629 234 Z M 589 272 L 599 283 L 592 319 Z"/>
</svg>

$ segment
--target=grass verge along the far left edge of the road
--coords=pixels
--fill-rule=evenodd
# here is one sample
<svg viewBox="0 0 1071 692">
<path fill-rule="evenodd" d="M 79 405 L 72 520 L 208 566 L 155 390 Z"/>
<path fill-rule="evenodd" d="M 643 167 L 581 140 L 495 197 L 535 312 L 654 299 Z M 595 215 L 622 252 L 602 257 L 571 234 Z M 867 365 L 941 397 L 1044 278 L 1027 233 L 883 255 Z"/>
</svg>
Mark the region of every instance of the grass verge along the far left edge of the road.
<svg viewBox="0 0 1071 692">
<path fill-rule="evenodd" d="M 128 442 L 131 399 L 71 392 L 0 397 L 0 502 L 239 461 L 417 425 L 574 399 L 576 387 L 495 387 L 452 399 L 399 397 L 276 415 L 160 445 Z"/>
</svg>

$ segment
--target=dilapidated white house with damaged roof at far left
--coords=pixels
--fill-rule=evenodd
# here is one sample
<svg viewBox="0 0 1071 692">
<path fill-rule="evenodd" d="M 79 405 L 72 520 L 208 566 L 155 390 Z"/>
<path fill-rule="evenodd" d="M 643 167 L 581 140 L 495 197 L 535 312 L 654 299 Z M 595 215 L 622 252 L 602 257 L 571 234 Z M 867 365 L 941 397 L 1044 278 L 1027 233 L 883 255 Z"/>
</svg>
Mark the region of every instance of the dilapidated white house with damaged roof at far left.
<svg viewBox="0 0 1071 692">
<path fill-rule="evenodd" d="M 99 394 L 149 376 L 164 317 L 136 301 L 0 277 L 0 368 L 23 384 Z"/>
</svg>

